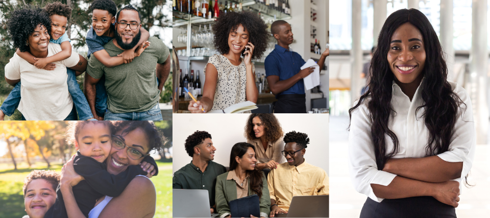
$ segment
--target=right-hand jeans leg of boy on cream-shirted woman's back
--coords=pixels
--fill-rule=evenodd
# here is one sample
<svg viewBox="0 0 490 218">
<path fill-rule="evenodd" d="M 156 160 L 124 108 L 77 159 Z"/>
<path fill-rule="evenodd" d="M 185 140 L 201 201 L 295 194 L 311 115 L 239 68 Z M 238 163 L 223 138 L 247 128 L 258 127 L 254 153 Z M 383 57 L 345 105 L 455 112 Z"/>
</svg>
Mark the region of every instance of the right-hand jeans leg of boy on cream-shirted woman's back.
<svg viewBox="0 0 490 218">
<path fill-rule="evenodd" d="M 80 120 L 93 118 L 92 111 L 90 110 L 90 106 L 88 106 L 87 99 L 80 89 L 80 85 L 78 85 L 75 70 L 66 68 L 66 73 L 68 74 L 68 91 L 70 92 L 71 99 L 73 100 L 73 103 L 77 108 Z"/>
</svg>

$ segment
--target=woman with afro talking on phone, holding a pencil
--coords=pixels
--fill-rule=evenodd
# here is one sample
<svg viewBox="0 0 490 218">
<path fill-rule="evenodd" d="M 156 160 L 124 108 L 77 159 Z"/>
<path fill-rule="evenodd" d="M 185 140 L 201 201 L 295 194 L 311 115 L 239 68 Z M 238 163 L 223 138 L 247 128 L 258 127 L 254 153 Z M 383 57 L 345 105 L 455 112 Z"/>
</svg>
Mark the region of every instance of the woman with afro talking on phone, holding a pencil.
<svg viewBox="0 0 490 218">
<path fill-rule="evenodd" d="M 201 108 L 223 110 L 241 102 L 256 103 L 258 99 L 252 59 L 260 59 L 267 47 L 265 22 L 252 12 L 228 12 L 217 18 L 213 32 L 219 55 L 209 57 L 204 68 L 203 98 L 189 102 L 192 113 L 202 113 Z"/>
</svg>

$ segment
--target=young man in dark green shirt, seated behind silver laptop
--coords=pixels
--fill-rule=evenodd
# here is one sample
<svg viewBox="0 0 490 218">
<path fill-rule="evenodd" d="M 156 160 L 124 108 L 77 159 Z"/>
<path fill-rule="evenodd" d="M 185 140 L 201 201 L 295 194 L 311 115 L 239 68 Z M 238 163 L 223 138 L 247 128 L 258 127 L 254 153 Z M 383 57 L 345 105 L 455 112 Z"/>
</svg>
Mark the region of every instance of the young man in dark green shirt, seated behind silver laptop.
<svg viewBox="0 0 490 218">
<path fill-rule="evenodd" d="M 212 161 L 216 148 L 211 141 L 211 134 L 195 131 L 185 139 L 184 146 L 192 161 L 174 173 L 172 186 L 174 189 L 208 190 L 210 212 L 215 213 L 216 177 L 226 173 L 226 168 Z"/>
</svg>

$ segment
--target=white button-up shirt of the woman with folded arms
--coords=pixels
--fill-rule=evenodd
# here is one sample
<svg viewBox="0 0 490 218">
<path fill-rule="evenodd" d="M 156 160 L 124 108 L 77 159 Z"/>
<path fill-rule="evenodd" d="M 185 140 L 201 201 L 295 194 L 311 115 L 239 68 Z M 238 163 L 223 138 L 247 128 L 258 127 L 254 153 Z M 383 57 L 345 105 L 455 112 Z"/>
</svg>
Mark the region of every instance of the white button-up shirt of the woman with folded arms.
<svg viewBox="0 0 490 218">
<path fill-rule="evenodd" d="M 422 83 L 424 80 L 422 80 Z M 454 134 L 451 137 L 448 151 L 437 156 L 447 162 L 463 162 L 461 177 L 455 179 L 455 181 L 459 182 L 459 190 L 462 190 L 464 176 L 470 172 L 473 158 L 475 157 L 476 131 L 470 95 L 456 83 L 449 83 L 452 90 L 466 104 L 466 110 L 464 111 L 464 105 L 462 105 L 461 107 L 464 111 L 462 118 L 461 110 L 458 110 L 457 120 L 454 124 Z M 393 95 L 390 103 L 396 113 L 391 112 L 388 119 L 388 128 L 397 135 L 399 141 L 399 152 L 392 158 L 426 157 L 429 130 L 425 126 L 424 117 L 420 118 L 425 108 L 421 108 L 417 113 L 417 117 L 415 117 L 417 107 L 424 104 L 421 96 L 422 85 L 415 91 L 411 102 L 395 82 L 393 82 L 392 88 Z M 352 111 L 348 152 L 349 174 L 358 192 L 376 202 L 381 202 L 383 199 L 375 195 L 371 184 L 387 186 L 397 175 L 378 170 L 374 145 L 371 139 L 371 116 L 366 102 L 364 100 L 358 108 Z M 393 142 L 387 135 L 385 136 L 385 143 L 386 153 L 393 151 Z"/>
</svg>

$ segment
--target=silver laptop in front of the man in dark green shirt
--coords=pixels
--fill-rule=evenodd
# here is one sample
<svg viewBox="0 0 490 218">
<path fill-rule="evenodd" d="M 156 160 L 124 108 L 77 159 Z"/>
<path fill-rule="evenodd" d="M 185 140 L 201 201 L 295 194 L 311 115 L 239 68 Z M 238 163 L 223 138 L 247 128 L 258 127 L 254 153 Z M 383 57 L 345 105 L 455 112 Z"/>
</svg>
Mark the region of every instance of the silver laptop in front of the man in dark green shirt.
<svg viewBox="0 0 490 218">
<path fill-rule="evenodd" d="M 173 217 L 216 217 L 209 211 L 208 190 L 173 189 Z"/>
</svg>

